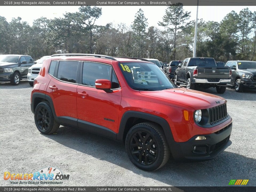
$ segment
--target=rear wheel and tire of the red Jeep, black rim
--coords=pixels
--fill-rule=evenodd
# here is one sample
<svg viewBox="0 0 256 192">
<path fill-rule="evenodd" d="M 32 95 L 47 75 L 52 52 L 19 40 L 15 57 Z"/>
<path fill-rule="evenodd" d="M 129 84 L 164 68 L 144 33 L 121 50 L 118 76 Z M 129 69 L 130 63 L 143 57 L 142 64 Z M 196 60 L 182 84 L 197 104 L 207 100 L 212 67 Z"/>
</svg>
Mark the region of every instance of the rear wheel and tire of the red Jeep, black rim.
<svg viewBox="0 0 256 192">
<path fill-rule="evenodd" d="M 35 125 L 42 134 L 52 134 L 59 129 L 59 123 L 55 121 L 48 103 L 39 103 L 35 108 L 34 114 Z"/>
</svg>

